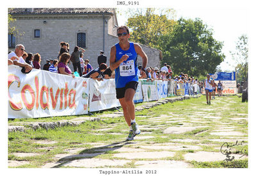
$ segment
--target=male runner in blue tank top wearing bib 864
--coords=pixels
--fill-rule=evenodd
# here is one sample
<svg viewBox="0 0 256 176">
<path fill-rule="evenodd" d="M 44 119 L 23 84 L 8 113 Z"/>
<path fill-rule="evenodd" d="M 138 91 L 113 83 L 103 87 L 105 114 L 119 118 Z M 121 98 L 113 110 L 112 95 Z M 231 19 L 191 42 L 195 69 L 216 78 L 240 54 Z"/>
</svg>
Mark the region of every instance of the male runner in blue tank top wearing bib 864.
<svg viewBox="0 0 256 176">
<path fill-rule="evenodd" d="M 119 100 L 124 118 L 130 127 L 126 141 L 133 140 L 140 134 L 140 129 L 135 122 L 135 107 L 133 97 L 138 86 L 138 55 L 142 58 L 142 67 L 147 66 L 147 55 L 140 45 L 129 42 L 130 34 L 127 26 L 117 29 L 119 42 L 111 47 L 109 63 L 115 69 L 116 99 Z"/>
</svg>

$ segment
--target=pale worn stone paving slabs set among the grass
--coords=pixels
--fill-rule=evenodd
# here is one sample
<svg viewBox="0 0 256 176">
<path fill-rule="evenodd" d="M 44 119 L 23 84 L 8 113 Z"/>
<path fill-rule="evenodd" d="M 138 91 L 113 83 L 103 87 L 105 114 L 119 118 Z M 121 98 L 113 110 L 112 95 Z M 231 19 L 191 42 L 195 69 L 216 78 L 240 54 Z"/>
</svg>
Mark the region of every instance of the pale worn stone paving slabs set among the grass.
<svg viewBox="0 0 256 176">
<path fill-rule="evenodd" d="M 183 99 L 188 98 L 168 98 L 161 100 L 161 102 L 149 102 L 136 108 L 136 110 L 140 111 L 143 108 L 152 108 L 159 104 Z M 227 142 L 234 144 L 236 141 L 239 143 L 244 141 L 243 146 L 241 145 L 241 147 L 247 145 L 248 135 L 239 130 L 237 131 L 237 127 L 234 126 L 232 122 L 240 122 L 240 124 L 244 124 L 248 122 L 248 115 L 244 113 L 239 117 L 234 117 L 236 120 L 220 122 L 212 128 L 211 123 L 219 122 L 218 120 L 222 118 L 221 113 L 218 113 L 218 109 L 214 109 L 214 104 L 218 103 L 218 99 L 216 100 L 216 102 L 212 101 L 213 106 L 211 106 L 211 109 L 210 106 L 207 106 L 209 109 L 200 109 L 200 112 L 196 115 L 187 114 L 180 116 L 170 113 L 170 115 L 157 117 L 148 116 L 147 121 L 150 123 L 148 125 L 140 126 L 141 134 L 136 136 L 133 141 L 90 143 L 93 145 L 93 147 L 90 148 L 90 152 L 84 152 L 86 151 L 86 148 L 70 148 L 66 150 L 67 153 L 65 154 L 57 154 L 54 157 L 54 162 L 46 163 L 42 168 L 57 168 L 60 166 L 74 168 L 109 168 L 122 166 L 132 168 L 192 168 L 193 165 L 190 161 L 211 162 L 225 161 L 228 159 L 229 161 L 232 159 L 247 159 L 248 156 L 243 156 L 239 152 L 237 154 L 232 153 L 228 155 L 227 153 L 221 153 L 220 149 L 223 143 Z M 230 102 L 230 106 L 232 106 L 232 103 L 236 102 Z M 193 107 L 195 106 L 196 105 L 193 105 Z M 208 113 L 208 111 L 212 110 L 215 110 L 216 113 Z M 81 117 L 68 123 L 71 125 L 79 125 L 83 123 L 83 120 L 99 120 L 106 116 L 115 118 L 116 116 L 122 116 L 122 113 L 90 117 L 88 119 Z M 243 116 L 243 118 L 241 118 L 241 116 Z M 142 121 L 143 120 L 141 120 L 141 122 Z M 76 124 L 76 122 L 78 124 Z M 55 123 L 57 126 L 60 124 L 60 122 Z M 138 124 L 140 124 L 140 120 L 138 120 Z M 19 126 L 19 129 L 21 127 L 22 125 Z M 32 125 L 31 127 L 33 128 Z M 44 127 L 44 125 L 38 125 L 38 127 Z M 38 129 L 38 127 L 36 129 Z M 104 135 L 106 129 L 95 129 L 95 131 L 99 131 L 99 135 Z M 154 136 L 154 131 L 162 134 L 161 139 Z M 188 132 L 194 132 L 195 135 L 191 136 L 191 138 L 182 138 L 182 134 L 187 134 Z M 204 134 L 206 133 L 212 136 L 212 139 L 205 140 Z M 168 139 L 163 142 L 154 140 L 155 138 L 159 140 L 163 140 L 164 138 L 167 139 L 169 135 L 173 134 L 180 135 L 180 138 Z M 54 143 L 54 141 L 40 142 Z M 224 145 L 223 150 L 224 149 L 228 149 L 227 145 Z M 52 148 L 49 147 L 47 150 L 52 150 Z M 107 158 L 106 154 L 110 156 Z M 13 155 L 19 157 L 35 156 L 33 153 L 14 153 Z M 8 161 L 8 166 L 11 167 L 22 166 L 24 164 L 28 164 L 28 162 Z"/>
</svg>

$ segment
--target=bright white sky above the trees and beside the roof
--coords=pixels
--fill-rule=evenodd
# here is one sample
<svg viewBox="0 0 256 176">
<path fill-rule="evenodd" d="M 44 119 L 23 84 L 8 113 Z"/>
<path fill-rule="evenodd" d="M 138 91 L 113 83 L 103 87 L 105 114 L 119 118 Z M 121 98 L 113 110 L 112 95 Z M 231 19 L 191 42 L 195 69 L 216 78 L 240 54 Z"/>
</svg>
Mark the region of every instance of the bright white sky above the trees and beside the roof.
<svg viewBox="0 0 256 176">
<path fill-rule="evenodd" d="M 172 8 L 172 6 L 168 6 Z M 192 8 L 177 7 L 174 8 L 177 17 L 180 19 L 200 18 L 204 24 L 213 29 L 213 37 L 223 43 L 222 52 L 225 54 L 225 60 L 220 64 L 222 71 L 233 71 L 235 61 L 232 60 L 230 51 L 236 51 L 236 42 L 241 35 L 248 36 L 248 10 L 246 8 L 205 8 L 196 6 Z M 117 15 L 118 25 L 124 25 L 128 17 L 124 13 Z"/>
</svg>

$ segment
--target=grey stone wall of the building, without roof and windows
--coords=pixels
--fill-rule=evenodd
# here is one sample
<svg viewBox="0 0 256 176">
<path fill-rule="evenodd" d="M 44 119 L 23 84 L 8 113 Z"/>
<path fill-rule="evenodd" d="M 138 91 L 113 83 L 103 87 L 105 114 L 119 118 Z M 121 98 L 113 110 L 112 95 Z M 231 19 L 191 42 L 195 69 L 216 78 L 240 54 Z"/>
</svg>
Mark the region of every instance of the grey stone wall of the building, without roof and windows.
<svg viewBox="0 0 256 176">
<path fill-rule="evenodd" d="M 15 26 L 22 36 L 16 37 L 16 44 L 23 44 L 26 52 L 33 54 L 39 53 L 42 57 L 41 67 L 44 66 L 49 58 L 56 59 L 60 51 L 60 42 L 68 42 L 70 44 L 70 54 L 77 45 L 77 33 L 86 33 L 86 51 L 84 52 L 84 60 L 90 60 L 93 68 L 98 67 L 97 56 L 99 51 L 104 50 L 107 56 L 107 65 L 109 65 L 110 49 L 118 42 L 115 36 L 115 24 L 117 24 L 115 16 L 105 16 L 105 24 L 102 15 L 95 17 L 19 17 L 15 21 Z M 45 22 L 44 22 L 45 21 Z M 103 25 L 105 25 L 103 35 Z M 34 38 L 34 30 L 40 29 L 40 38 Z M 111 35 L 111 31 L 115 31 Z M 109 34 L 110 33 L 110 34 Z M 105 40 L 103 39 L 105 37 Z M 104 42 L 104 45 L 103 45 Z M 148 67 L 159 67 L 159 50 L 141 45 L 143 51 L 148 56 Z M 10 48 L 14 50 L 14 48 Z M 140 56 L 138 64 L 142 64 Z M 72 64 L 69 67 L 73 70 Z"/>
</svg>

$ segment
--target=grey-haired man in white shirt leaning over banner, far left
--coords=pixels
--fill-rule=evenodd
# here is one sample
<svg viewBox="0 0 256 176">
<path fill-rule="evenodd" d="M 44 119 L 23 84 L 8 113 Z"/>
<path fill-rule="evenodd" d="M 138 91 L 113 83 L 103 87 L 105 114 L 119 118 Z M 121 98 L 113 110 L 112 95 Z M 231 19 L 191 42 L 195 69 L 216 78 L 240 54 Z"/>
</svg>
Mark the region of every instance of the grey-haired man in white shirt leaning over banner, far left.
<svg viewBox="0 0 256 176">
<path fill-rule="evenodd" d="M 24 61 L 24 63 L 21 63 L 19 60 L 23 60 L 22 56 L 25 52 L 25 47 L 22 44 L 18 44 L 15 46 L 15 51 L 14 52 L 10 52 L 8 54 L 8 64 L 11 63 L 12 60 L 14 65 L 18 65 L 20 67 L 25 67 L 25 72 L 28 73 L 31 71 L 32 66 L 29 65 L 28 63 L 26 63 Z"/>
</svg>

